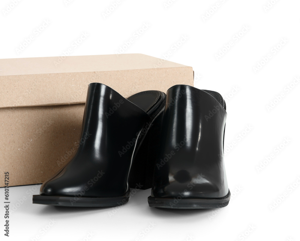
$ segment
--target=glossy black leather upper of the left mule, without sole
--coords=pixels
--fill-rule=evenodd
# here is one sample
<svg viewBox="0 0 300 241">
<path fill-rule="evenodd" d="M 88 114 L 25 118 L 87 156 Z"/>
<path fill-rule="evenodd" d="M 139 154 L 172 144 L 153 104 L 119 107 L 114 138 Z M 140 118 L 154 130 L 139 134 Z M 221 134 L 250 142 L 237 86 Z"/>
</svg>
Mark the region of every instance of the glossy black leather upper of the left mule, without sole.
<svg viewBox="0 0 300 241">
<path fill-rule="evenodd" d="M 91 83 L 80 145 L 73 159 L 43 183 L 41 195 L 115 197 L 128 190 L 137 136 L 150 121 L 140 107 L 112 88 Z M 124 149 L 126 145 L 131 147 Z M 121 154 L 121 152 L 123 154 Z"/>
</svg>

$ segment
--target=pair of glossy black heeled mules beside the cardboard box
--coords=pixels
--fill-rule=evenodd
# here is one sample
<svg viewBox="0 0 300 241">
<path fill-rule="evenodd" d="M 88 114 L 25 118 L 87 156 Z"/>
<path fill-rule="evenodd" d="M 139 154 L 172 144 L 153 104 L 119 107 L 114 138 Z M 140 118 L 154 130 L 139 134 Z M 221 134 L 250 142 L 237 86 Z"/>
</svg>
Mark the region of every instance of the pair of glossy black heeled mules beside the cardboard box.
<svg viewBox="0 0 300 241">
<path fill-rule="evenodd" d="M 118 206 L 130 188 L 152 187 L 150 207 L 224 207 L 230 199 L 223 141 L 225 102 L 214 91 L 175 85 L 128 99 L 91 83 L 78 150 L 33 203 Z"/>
</svg>

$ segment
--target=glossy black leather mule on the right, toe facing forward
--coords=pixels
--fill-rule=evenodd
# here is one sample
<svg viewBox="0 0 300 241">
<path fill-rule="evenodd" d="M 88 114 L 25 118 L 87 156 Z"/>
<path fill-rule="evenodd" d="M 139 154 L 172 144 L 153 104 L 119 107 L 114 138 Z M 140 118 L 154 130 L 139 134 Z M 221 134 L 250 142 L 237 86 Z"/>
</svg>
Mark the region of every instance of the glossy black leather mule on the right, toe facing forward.
<svg viewBox="0 0 300 241">
<path fill-rule="evenodd" d="M 196 209 L 229 203 L 223 158 L 226 105 L 214 91 L 167 91 L 150 207 Z"/>
</svg>

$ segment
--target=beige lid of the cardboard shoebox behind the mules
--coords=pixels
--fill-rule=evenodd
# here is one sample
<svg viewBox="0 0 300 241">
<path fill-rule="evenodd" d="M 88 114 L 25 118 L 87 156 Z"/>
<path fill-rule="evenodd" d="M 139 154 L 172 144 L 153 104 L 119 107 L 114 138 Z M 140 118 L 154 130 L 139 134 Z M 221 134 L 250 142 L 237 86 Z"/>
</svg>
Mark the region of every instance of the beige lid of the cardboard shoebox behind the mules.
<svg viewBox="0 0 300 241">
<path fill-rule="evenodd" d="M 155 82 L 164 81 L 153 79 L 151 83 L 151 76 L 147 82 L 135 78 L 162 76 L 157 73 L 165 70 L 168 74 L 178 68 L 179 74 L 193 71 L 192 67 L 143 54 L 0 59 L 0 108 L 85 103 L 91 82 L 107 84 L 129 97 L 135 90 L 149 90 Z M 143 73 L 143 69 L 149 71 Z M 124 84 L 132 88 L 124 88 Z"/>
</svg>

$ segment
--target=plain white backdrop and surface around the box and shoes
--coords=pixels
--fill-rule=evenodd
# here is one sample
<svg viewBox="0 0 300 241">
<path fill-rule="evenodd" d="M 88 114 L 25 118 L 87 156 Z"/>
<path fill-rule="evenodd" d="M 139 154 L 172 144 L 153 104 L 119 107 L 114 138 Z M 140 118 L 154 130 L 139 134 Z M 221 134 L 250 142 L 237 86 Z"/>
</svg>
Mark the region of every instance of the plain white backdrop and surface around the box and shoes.
<svg viewBox="0 0 300 241">
<path fill-rule="evenodd" d="M 300 76 L 300 2 L 270 2 L 267 9 L 267 0 L 128 0 L 104 18 L 116 1 L 18 1 L 7 11 L 13 0 L 2 0 L 0 58 L 61 56 L 68 48 L 70 55 L 115 54 L 144 24 L 150 25 L 124 53 L 192 66 L 195 86 L 218 91 L 226 100 L 225 165 L 232 194 L 222 209 L 168 210 L 148 206 L 148 189 L 116 210 L 32 204 L 30 190 L 38 194 L 40 185 L 13 187 L 11 204 L 18 208 L 11 213 L 7 240 L 35 240 L 36 235 L 39 240 L 300 240 L 300 84 L 293 83 Z M 50 23 L 34 35 L 44 20 Z M 82 33 L 88 36 L 74 48 Z M 17 51 L 30 35 L 32 42 Z M 182 36 L 187 39 L 178 43 Z M 224 45 L 229 49 L 223 51 Z M 219 58 L 220 51 L 225 53 Z M 260 67 L 263 58 L 268 61 Z"/>
</svg>

